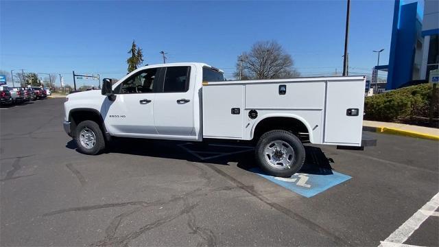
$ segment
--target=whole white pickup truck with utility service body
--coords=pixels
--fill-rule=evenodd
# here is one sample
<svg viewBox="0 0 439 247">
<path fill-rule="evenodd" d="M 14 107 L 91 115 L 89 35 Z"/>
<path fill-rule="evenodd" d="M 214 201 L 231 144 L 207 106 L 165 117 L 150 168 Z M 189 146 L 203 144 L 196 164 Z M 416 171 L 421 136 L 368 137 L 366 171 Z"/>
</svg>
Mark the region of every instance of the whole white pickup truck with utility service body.
<svg viewBox="0 0 439 247">
<path fill-rule="evenodd" d="M 303 141 L 363 145 L 365 80 L 225 81 L 204 63 L 156 64 L 68 95 L 64 130 L 84 154 L 99 154 L 111 137 L 252 141 L 259 166 L 286 177 L 305 161 Z"/>
</svg>

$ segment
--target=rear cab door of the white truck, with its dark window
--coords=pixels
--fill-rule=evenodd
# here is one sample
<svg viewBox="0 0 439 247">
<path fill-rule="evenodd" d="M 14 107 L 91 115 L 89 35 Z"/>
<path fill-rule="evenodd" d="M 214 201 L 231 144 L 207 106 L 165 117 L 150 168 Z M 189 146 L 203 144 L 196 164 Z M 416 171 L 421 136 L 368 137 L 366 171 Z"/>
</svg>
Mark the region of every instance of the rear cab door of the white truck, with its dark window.
<svg viewBox="0 0 439 247">
<path fill-rule="evenodd" d="M 159 135 L 176 139 L 195 137 L 193 123 L 193 90 L 195 73 L 191 66 L 162 69 L 162 92 L 154 99 L 154 123 Z M 188 138 L 189 137 L 189 138 Z"/>
</svg>

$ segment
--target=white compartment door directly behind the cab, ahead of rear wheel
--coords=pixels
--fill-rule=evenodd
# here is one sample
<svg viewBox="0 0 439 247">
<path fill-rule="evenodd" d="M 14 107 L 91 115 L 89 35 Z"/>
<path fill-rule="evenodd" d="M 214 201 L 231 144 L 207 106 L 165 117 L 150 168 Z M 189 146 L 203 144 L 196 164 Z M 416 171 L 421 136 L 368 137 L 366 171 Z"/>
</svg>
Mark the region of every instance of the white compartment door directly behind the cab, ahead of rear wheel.
<svg viewBox="0 0 439 247">
<path fill-rule="evenodd" d="M 244 85 L 212 85 L 202 89 L 203 137 L 242 139 Z"/>
</svg>

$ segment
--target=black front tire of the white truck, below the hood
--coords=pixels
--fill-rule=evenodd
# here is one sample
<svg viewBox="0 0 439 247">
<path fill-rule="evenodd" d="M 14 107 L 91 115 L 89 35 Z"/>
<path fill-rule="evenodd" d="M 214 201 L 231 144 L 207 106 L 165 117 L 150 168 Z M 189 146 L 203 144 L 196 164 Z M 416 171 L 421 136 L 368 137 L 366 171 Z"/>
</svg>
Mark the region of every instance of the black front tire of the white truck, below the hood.
<svg viewBox="0 0 439 247">
<path fill-rule="evenodd" d="M 86 148 L 81 143 L 81 132 L 82 130 L 86 129 L 87 132 L 93 132 L 95 136 L 95 144 L 91 145 L 91 148 Z M 104 134 L 102 134 L 101 128 L 99 128 L 99 125 L 96 124 L 95 121 L 86 120 L 80 122 L 75 130 L 75 141 L 76 145 L 78 145 L 78 150 L 82 152 L 83 154 L 90 154 L 95 155 L 99 154 L 105 149 L 105 139 Z"/>
</svg>

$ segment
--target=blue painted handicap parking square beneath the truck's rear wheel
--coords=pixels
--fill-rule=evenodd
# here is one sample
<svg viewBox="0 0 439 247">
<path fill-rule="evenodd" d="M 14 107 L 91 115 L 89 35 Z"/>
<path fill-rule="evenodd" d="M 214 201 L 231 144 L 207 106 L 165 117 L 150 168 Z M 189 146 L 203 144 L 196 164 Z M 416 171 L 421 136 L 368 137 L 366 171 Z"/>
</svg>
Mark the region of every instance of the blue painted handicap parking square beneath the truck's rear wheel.
<svg viewBox="0 0 439 247">
<path fill-rule="evenodd" d="M 334 171 L 322 171 L 322 174 L 296 173 L 290 178 L 266 175 L 257 167 L 250 169 L 250 171 L 306 198 L 316 196 L 318 193 L 322 193 L 352 178 Z"/>
</svg>

